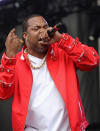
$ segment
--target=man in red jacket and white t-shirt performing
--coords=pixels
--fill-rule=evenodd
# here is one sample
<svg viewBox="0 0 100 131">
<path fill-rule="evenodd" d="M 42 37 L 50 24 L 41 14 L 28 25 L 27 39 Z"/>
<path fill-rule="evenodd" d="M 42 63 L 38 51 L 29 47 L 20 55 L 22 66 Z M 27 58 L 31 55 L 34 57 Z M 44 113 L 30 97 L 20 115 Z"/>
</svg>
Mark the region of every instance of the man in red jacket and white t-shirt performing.
<svg viewBox="0 0 100 131">
<path fill-rule="evenodd" d="M 99 63 L 92 47 L 52 27 L 40 15 L 23 24 L 25 46 L 12 29 L 0 66 L 0 98 L 13 95 L 13 131 L 84 131 L 85 119 L 76 69 L 90 71 Z"/>
</svg>

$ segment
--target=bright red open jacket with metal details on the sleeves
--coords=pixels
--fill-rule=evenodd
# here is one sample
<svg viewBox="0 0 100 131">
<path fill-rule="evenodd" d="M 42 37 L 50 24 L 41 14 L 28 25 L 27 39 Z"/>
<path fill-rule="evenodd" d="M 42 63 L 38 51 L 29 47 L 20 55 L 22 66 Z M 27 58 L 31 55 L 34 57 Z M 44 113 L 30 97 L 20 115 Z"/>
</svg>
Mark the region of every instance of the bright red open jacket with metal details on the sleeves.
<svg viewBox="0 0 100 131">
<path fill-rule="evenodd" d="M 23 131 L 27 116 L 32 84 L 34 82 L 24 48 L 16 58 L 5 53 L 0 65 L 0 99 L 13 95 L 12 128 Z M 80 98 L 76 69 L 90 71 L 99 63 L 99 56 L 92 47 L 63 34 L 58 43 L 52 44 L 47 53 L 47 67 L 54 83 L 64 99 L 71 131 L 82 131 L 88 125 Z M 33 78 L 32 78 L 33 77 Z"/>
</svg>

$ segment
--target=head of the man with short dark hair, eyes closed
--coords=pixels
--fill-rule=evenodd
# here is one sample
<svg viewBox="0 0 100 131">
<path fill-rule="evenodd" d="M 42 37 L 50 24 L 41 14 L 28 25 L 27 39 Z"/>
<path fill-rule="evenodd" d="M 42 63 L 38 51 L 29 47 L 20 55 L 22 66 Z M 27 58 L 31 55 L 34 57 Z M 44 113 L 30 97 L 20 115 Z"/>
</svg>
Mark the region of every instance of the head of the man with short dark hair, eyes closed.
<svg viewBox="0 0 100 131">
<path fill-rule="evenodd" d="M 45 55 L 48 45 L 43 45 L 40 36 L 48 28 L 47 21 L 41 15 L 32 15 L 23 22 L 23 38 L 32 55 Z"/>
</svg>

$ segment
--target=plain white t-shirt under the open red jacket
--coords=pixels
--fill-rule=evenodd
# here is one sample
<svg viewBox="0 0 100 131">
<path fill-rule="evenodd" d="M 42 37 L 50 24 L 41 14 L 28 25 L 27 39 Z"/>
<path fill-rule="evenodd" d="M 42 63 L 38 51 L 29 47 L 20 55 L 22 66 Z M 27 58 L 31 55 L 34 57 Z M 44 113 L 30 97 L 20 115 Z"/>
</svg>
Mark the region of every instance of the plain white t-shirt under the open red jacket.
<svg viewBox="0 0 100 131">
<path fill-rule="evenodd" d="M 29 55 L 31 64 L 40 66 L 44 59 Z M 71 131 L 65 103 L 48 71 L 46 62 L 32 69 L 33 86 L 25 131 Z"/>
</svg>

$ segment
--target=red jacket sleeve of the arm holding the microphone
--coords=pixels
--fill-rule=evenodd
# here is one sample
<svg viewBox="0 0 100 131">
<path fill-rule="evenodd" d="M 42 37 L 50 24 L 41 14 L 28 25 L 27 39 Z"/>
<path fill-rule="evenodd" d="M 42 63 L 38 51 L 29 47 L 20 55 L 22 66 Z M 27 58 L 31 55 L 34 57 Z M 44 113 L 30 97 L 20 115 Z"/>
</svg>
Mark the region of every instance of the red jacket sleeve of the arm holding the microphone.
<svg viewBox="0 0 100 131">
<path fill-rule="evenodd" d="M 82 44 L 78 38 L 73 39 L 70 35 L 63 33 L 58 47 L 62 48 L 74 61 L 76 68 L 82 71 L 90 71 L 99 64 L 96 50 Z"/>
</svg>

